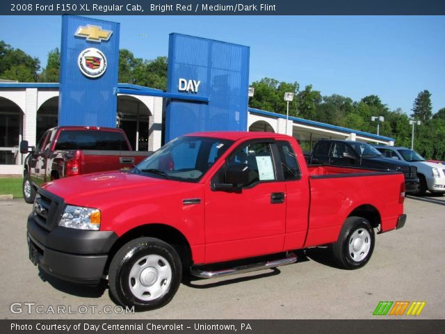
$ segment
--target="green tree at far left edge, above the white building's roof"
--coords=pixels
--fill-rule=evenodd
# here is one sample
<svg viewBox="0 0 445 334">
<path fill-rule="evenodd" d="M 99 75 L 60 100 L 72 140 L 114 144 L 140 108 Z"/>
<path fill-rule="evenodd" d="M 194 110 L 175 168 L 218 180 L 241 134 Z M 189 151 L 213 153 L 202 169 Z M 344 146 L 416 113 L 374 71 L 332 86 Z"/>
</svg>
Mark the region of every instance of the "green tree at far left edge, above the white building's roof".
<svg viewBox="0 0 445 334">
<path fill-rule="evenodd" d="M 20 49 L 14 49 L 0 40 L 0 78 L 22 82 L 35 82 L 40 61 Z"/>
</svg>

